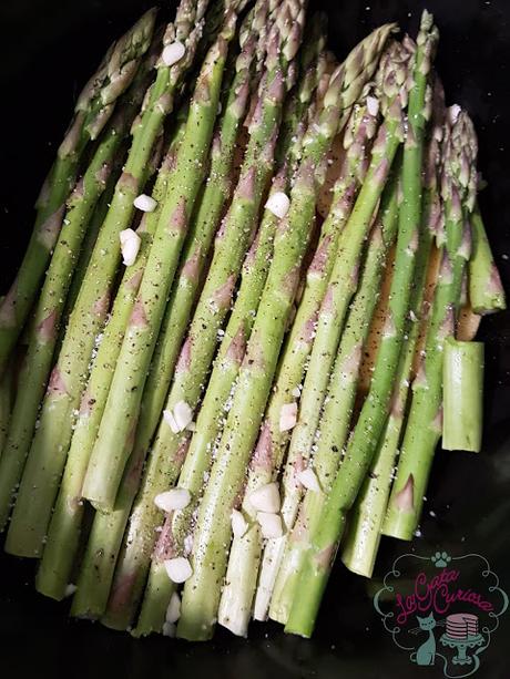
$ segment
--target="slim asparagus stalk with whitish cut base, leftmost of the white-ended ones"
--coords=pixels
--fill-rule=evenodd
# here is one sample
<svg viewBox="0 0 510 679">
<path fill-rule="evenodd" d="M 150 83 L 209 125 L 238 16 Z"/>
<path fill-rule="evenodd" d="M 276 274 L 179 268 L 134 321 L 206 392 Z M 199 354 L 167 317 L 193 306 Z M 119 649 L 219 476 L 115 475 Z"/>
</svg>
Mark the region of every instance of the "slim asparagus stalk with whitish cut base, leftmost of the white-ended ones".
<svg viewBox="0 0 510 679">
<path fill-rule="evenodd" d="M 303 332 L 303 328 L 309 328 L 313 325 L 313 321 L 312 323 L 309 322 L 310 312 L 313 315 L 314 304 L 318 306 L 318 297 L 322 291 L 324 292 L 326 285 L 324 277 L 329 272 L 323 270 L 328 269 L 328 251 L 334 251 L 335 249 L 338 233 L 347 220 L 356 192 L 367 169 L 366 163 L 360 162 L 360 156 L 363 158 L 365 144 L 369 144 L 375 131 L 376 116 L 371 116 L 364 105 L 355 106 L 349 127 L 344 137 L 346 157 L 340 177 L 335 185 L 333 198 L 335 207 L 330 210 L 328 218 L 323 225 L 320 241 L 307 271 L 307 287 L 305 287 L 302 302 L 294 320 L 295 327 L 300 328 L 302 333 L 300 337 L 295 338 L 293 337 L 293 331 L 290 331 L 290 339 L 287 346 L 287 351 L 290 346 L 295 348 L 292 354 L 294 364 L 302 369 L 303 359 L 306 357 L 307 347 L 312 341 L 306 332 Z M 287 354 L 284 352 L 284 366 Z M 288 362 L 287 359 L 287 366 Z M 246 634 L 262 552 L 261 529 L 256 522 L 256 512 L 249 503 L 249 494 L 257 487 L 269 483 L 275 475 L 275 470 L 278 470 L 280 465 L 278 457 L 274 459 L 272 454 L 268 456 L 265 454 L 263 444 L 267 441 L 266 436 L 272 436 L 272 439 L 278 435 L 282 436 L 279 432 L 279 416 L 277 418 L 276 411 L 278 410 L 279 415 L 282 404 L 285 402 L 285 399 L 288 401 L 289 391 L 293 391 L 292 384 L 289 385 L 288 382 L 284 381 L 286 377 L 288 377 L 288 371 L 280 368 L 276 390 L 267 409 L 268 414 L 266 415 L 263 434 L 256 447 L 257 452 L 252 461 L 246 486 L 247 491 L 243 502 L 243 512 L 249 517 L 251 525 L 243 536 L 234 537 L 233 539 L 226 585 L 223 589 L 220 606 L 218 621 L 239 635 Z M 284 392 L 282 393 L 283 388 Z M 290 393 L 290 395 L 293 394 Z M 276 401 L 279 402 L 278 409 L 275 407 Z M 273 420 L 271 416 L 273 416 Z M 239 586 L 239 575 L 243 577 L 244 586 Z"/>
</svg>

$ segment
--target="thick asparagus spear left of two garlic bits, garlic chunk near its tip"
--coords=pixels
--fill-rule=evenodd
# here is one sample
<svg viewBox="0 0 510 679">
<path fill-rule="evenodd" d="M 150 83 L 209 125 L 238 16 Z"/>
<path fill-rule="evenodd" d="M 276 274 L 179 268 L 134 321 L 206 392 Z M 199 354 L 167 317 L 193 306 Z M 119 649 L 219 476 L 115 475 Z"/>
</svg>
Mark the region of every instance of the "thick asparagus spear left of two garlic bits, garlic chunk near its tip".
<svg viewBox="0 0 510 679">
<path fill-rule="evenodd" d="M 185 55 L 173 66 L 160 60 L 140 122 L 134 125 L 133 144 L 124 172 L 116 184 L 44 397 L 40 426 L 32 442 L 6 541 L 6 549 L 12 554 L 39 556 L 41 553 L 71 441 L 73 411 L 79 408 L 95 336 L 109 308 L 120 258 L 119 234 L 131 224 L 135 209 L 133 202 L 146 181 L 149 162 L 163 121 L 172 110 L 173 94 L 193 63 L 206 4 L 206 0 L 197 0 L 196 4 L 182 0 L 175 22 L 167 27 L 163 38 L 165 47 L 175 39 L 184 40 Z"/>
</svg>

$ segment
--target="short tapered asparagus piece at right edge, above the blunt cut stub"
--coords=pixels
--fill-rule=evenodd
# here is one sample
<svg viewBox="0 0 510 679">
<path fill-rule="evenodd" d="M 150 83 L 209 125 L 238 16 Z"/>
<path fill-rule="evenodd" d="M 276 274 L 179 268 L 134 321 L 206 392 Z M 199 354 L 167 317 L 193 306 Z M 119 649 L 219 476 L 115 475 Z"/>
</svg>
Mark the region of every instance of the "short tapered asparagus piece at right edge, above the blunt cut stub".
<svg viewBox="0 0 510 679">
<path fill-rule="evenodd" d="M 469 260 L 469 300 L 475 313 L 493 313 L 507 308 L 478 204 L 471 215 L 472 253 Z"/>
</svg>

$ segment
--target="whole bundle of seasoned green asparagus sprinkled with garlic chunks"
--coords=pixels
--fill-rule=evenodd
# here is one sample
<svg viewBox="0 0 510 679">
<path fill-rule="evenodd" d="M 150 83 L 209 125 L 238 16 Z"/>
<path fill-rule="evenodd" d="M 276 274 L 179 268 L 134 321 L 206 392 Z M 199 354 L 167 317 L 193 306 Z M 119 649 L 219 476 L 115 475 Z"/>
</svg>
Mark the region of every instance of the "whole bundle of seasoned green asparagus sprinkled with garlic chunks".
<svg viewBox="0 0 510 679">
<path fill-rule="evenodd" d="M 181 0 L 79 97 L 0 306 L 4 547 L 74 616 L 310 636 L 338 548 L 370 577 L 441 435 L 480 450 L 463 323 L 506 302 L 472 123 L 427 11 L 340 64 L 325 25 Z"/>
</svg>

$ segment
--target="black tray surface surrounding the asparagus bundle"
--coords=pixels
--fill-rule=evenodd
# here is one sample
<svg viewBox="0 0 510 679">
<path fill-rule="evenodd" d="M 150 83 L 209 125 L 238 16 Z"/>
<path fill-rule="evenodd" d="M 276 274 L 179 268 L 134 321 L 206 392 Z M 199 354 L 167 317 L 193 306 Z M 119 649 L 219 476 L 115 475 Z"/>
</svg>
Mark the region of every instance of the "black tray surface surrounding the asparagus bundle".
<svg viewBox="0 0 510 679">
<path fill-rule="evenodd" d="M 31 230 L 32 205 L 71 116 L 80 86 L 111 40 L 150 7 L 144 0 L 4 0 L 0 6 L 0 291 L 9 285 Z M 173 4 L 173 3 L 171 3 Z M 167 7 L 167 3 L 165 3 Z M 419 12 L 435 12 L 437 59 L 448 103 L 465 105 L 480 140 L 481 196 L 496 259 L 510 290 L 510 3 L 506 0 L 334 0 L 310 7 L 329 16 L 339 58 L 371 28 L 397 20 L 416 34 Z M 483 554 L 510 590 L 510 317 L 483 320 L 487 342 L 486 436 L 481 455 L 437 455 L 421 536 L 411 548 L 429 555 Z M 376 579 L 408 545 L 385 542 Z M 414 678 L 417 668 L 384 634 L 367 583 L 337 565 L 312 641 L 253 625 L 249 641 L 218 630 L 191 646 L 165 638 L 133 640 L 99 625 L 69 620 L 67 605 L 33 590 L 33 564 L 0 555 L 0 677 L 54 678 L 207 676 Z M 477 677 L 510 677 L 509 615 L 483 654 Z"/>
</svg>

